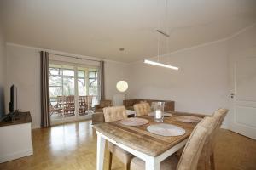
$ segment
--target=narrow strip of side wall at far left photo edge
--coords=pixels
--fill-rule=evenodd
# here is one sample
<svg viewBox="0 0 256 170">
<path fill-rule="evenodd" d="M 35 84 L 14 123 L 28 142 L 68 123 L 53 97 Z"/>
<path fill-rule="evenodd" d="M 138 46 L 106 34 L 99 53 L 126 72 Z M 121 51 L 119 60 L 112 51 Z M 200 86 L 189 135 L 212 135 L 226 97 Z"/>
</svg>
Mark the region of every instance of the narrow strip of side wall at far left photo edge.
<svg viewBox="0 0 256 170">
<path fill-rule="evenodd" d="M 2 21 L 2 20 L 1 20 Z M 4 113 L 5 38 L 0 21 L 0 116 Z"/>
</svg>

